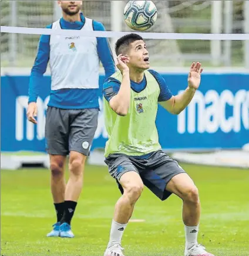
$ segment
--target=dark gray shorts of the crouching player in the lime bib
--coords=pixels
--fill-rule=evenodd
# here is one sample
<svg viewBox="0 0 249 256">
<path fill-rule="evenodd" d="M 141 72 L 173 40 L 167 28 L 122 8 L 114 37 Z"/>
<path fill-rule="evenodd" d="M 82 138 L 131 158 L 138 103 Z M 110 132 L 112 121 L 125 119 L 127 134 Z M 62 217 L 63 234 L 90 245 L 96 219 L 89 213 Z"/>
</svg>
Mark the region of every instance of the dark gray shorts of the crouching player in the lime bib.
<svg viewBox="0 0 249 256">
<path fill-rule="evenodd" d="M 143 157 L 111 154 L 105 162 L 108 165 L 110 175 L 116 179 L 122 194 L 123 188 L 119 184 L 120 178 L 126 172 L 135 171 L 142 178 L 143 184 L 161 201 L 166 200 L 171 195 L 171 192 L 166 191 L 166 185 L 170 179 L 185 172 L 177 161 L 161 150 L 143 155 Z"/>
</svg>

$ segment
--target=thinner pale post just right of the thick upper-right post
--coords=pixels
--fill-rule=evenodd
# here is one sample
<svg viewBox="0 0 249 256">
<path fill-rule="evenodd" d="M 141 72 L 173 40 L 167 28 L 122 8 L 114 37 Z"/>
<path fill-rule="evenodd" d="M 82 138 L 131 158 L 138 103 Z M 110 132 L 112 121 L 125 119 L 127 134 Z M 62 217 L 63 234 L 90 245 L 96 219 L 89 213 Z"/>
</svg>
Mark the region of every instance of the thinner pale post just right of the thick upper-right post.
<svg viewBox="0 0 249 256">
<path fill-rule="evenodd" d="M 233 32 L 233 1 L 225 1 L 224 5 L 224 32 L 230 34 Z M 224 64 L 231 66 L 231 40 L 224 41 Z"/>
</svg>

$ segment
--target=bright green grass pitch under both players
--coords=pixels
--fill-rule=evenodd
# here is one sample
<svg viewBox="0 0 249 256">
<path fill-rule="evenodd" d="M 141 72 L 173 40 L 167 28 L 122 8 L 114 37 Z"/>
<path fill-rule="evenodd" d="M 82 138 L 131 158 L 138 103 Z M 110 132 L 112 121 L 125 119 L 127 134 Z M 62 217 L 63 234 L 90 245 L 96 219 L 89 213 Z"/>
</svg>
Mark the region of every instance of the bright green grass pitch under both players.
<svg viewBox="0 0 249 256">
<path fill-rule="evenodd" d="M 202 205 L 198 242 L 217 256 L 249 255 L 249 171 L 182 165 Z M 55 222 L 46 169 L 1 172 L 2 256 L 103 256 L 120 194 L 106 167 L 86 166 L 72 229 L 76 237 L 46 238 Z M 123 237 L 127 256 L 183 256 L 181 200 L 161 202 L 147 188 Z"/>
</svg>

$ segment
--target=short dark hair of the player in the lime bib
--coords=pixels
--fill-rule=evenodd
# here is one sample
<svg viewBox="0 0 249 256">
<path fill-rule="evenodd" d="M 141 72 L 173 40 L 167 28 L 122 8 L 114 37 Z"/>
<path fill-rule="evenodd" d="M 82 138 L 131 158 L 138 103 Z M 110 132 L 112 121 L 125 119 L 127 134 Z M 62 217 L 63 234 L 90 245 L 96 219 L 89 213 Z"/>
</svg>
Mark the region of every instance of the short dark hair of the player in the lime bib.
<svg viewBox="0 0 249 256">
<path fill-rule="evenodd" d="M 119 38 L 115 44 L 116 55 L 126 54 L 129 49 L 129 45 L 139 40 L 143 40 L 142 36 L 134 33 L 122 36 L 122 38 Z"/>
</svg>

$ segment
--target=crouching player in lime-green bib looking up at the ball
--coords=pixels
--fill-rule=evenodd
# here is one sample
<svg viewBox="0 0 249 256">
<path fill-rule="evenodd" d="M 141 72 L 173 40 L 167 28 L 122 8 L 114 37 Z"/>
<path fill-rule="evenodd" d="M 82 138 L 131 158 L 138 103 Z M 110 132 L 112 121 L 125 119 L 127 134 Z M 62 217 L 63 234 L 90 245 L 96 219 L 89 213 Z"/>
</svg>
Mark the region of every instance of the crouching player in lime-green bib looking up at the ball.
<svg viewBox="0 0 249 256">
<path fill-rule="evenodd" d="M 105 256 L 124 256 L 122 235 L 144 185 L 162 201 L 172 193 L 183 200 L 184 256 L 213 256 L 197 242 L 201 211 L 198 189 L 177 161 L 161 150 L 155 124 L 158 102 L 171 114 L 187 107 L 200 85 L 201 64 L 191 65 L 186 90 L 173 96 L 163 77 L 147 70 L 149 53 L 142 37 L 125 35 L 116 42 L 115 50 L 120 71 L 103 85 L 109 136 L 105 162 L 122 197 L 116 203 Z"/>
</svg>

